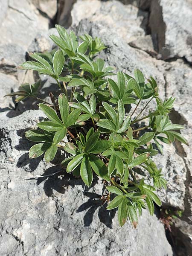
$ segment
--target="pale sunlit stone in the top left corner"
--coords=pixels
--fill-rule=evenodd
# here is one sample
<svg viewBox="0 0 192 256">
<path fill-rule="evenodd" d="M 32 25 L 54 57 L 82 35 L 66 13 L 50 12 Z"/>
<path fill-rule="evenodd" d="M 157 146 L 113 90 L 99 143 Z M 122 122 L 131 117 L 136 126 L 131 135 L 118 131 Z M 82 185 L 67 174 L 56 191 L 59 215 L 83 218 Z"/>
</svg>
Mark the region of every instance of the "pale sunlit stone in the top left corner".
<svg viewBox="0 0 192 256">
<path fill-rule="evenodd" d="M 44 31 L 48 28 L 49 20 L 40 15 L 32 3 L 10 0 L 6 16 L 0 24 L 1 44 L 17 44 L 26 50 L 37 29 Z"/>
</svg>

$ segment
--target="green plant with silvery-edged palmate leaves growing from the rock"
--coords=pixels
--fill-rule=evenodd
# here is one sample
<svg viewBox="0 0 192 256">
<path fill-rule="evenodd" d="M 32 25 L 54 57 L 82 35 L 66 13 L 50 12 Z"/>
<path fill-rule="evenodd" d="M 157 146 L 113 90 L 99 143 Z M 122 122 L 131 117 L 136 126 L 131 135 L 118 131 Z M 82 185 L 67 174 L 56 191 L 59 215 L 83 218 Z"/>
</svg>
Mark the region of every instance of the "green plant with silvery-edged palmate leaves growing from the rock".
<svg viewBox="0 0 192 256">
<path fill-rule="evenodd" d="M 169 119 L 175 99 L 162 101 L 154 78 L 151 76 L 146 83 L 138 69 L 134 77 L 118 72 L 117 79 L 107 78 L 115 73 L 112 67 L 105 67 L 102 59 L 96 58 L 105 49 L 100 39 L 84 35 L 79 44 L 74 32 L 68 34 L 63 27 L 56 28 L 59 36 L 50 38 L 59 49 L 33 53 L 30 55 L 33 61 L 26 61 L 19 68 L 54 78 L 61 89 L 58 99 L 52 96 L 50 105 L 38 98 L 40 82 L 31 86 L 23 84 L 18 92 L 9 95 L 18 95 L 17 101 L 32 96 L 43 102 L 39 108 L 47 119 L 39 122 L 37 129 L 26 131 L 26 138 L 36 143 L 29 150 L 29 157 L 45 153 L 49 162 L 58 148 L 68 152 L 71 155 L 61 166 L 81 176 L 87 186 L 93 181 L 93 173 L 105 180 L 108 198 L 111 195 L 113 198 L 107 209 L 118 208 L 120 226 L 129 218 L 137 227 L 137 214 L 141 215 L 142 209 L 148 207 L 152 215 L 154 203 L 161 205 L 155 190 L 166 189 L 166 180 L 152 157 L 159 151 L 163 153 L 162 143 L 179 140 L 187 144 L 179 132 L 183 126 L 172 124 Z M 151 101 L 156 108 L 143 115 Z M 137 113 L 141 103 L 143 108 Z M 125 107 L 129 109 L 130 104 L 136 106 L 126 113 Z M 146 122 L 145 126 L 141 121 Z M 66 134 L 68 142 L 64 143 Z M 136 166 L 146 171 L 153 186 L 146 177 L 138 179 Z"/>
</svg>

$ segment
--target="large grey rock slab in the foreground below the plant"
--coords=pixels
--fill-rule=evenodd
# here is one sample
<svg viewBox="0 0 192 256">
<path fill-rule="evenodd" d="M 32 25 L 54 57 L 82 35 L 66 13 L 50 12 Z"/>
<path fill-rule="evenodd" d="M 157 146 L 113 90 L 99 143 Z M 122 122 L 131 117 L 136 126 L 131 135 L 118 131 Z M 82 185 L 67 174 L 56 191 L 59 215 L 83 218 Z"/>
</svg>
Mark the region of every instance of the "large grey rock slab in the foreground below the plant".
<svg viewBox="0 0 192 256">
<path fill-rule="evenodd" d="M 143 211 L 136 230 L 128 222 L 119 228 L 117 214 L 101 207 L 100 180 L 94 180 L 90 189 L 66 173 L 30 180 L 61 170 L 42 157 L 28 158 L 32 143 L 24 139 L 24 131 L 35 126 L 39 116 L 44 116 L 41 111 L 12 119 L 1 115 L 2 255 L 172 256 L 155 215 Z"/>
</svg>

